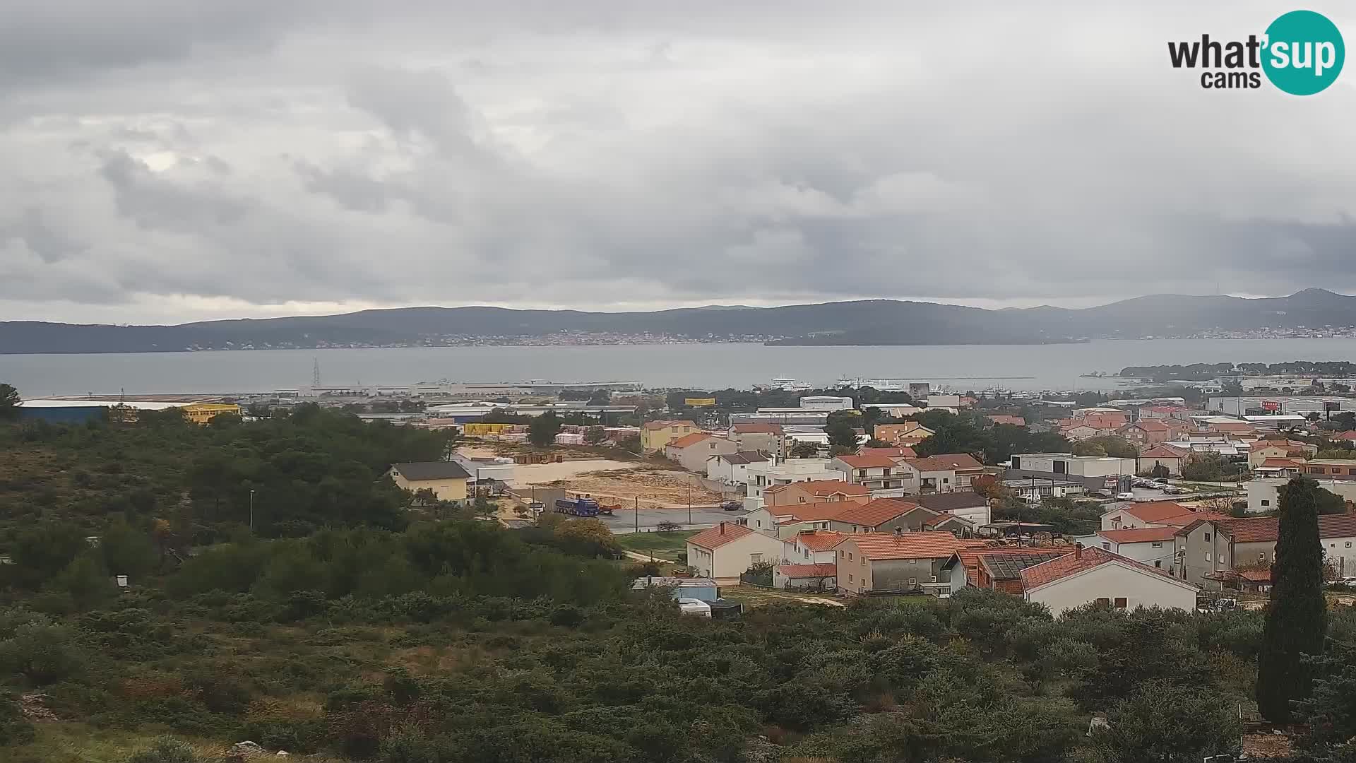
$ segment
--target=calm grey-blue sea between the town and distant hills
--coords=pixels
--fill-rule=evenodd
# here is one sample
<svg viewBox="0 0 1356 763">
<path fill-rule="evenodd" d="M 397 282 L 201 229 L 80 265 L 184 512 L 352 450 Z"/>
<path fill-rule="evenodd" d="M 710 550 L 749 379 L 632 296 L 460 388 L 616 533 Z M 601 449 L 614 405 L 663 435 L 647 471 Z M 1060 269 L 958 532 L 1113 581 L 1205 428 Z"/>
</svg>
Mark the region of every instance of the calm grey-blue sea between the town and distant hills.
<svg viewBox="0 0 1356 763">
<path fill-rule="evenodd" d="M 28 398 L 85 392 L 264 392 L 311 383 L 641 382 L 648 387 L 750 387 L 772 377 L 933 380 L 957 390 L 1096 390 L 1082 379 L 1127 365 L 1353 360 L 1356 339 L 1144 339 L 1082 345 L 767 348 L 624 345 L 584 348 L 392 348 L 133 354 L 0 354 L 0 382 Z"/>
</svg>

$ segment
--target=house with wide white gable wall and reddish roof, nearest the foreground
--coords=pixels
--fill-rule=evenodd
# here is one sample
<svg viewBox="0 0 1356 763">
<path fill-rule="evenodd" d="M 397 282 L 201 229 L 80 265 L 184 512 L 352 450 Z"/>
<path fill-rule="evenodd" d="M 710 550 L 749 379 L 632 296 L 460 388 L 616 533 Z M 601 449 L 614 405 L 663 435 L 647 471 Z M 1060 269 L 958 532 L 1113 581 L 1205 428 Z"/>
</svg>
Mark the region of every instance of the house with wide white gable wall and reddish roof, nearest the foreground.
<svg viewBox="0 0 1356 763">
<path fill-rule="evenodd" d="M 1117 610 L 1162 607 L 1196 611 L 1197 587 L 1163 570 L 1102 548 L 1075 546 L 1074 553 L 1021 570 L 1022 596 L 1044 604 L 1056 618 L 1090 603 Z"/>
</svg>

